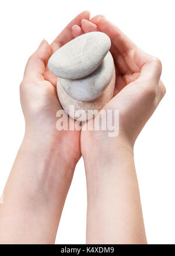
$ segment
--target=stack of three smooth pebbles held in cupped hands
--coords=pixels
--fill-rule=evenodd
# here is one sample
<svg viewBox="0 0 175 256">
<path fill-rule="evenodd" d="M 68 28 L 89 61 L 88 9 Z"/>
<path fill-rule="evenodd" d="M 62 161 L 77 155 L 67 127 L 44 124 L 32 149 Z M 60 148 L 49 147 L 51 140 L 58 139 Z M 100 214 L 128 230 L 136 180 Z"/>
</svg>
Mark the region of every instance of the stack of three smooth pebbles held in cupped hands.
<svg viewBox="0 0 175 256">
<path fill-rule="evenodd" d="M 85 110 L 100 110 L 114 94 L 115 68 L 110 53 L 110 38 L 101 32 L 90 32 L 69 41 L 50 57 L 48 68 L 58 77 L 58 99 L 73 119 L 69 106 Z"/>
</svg>

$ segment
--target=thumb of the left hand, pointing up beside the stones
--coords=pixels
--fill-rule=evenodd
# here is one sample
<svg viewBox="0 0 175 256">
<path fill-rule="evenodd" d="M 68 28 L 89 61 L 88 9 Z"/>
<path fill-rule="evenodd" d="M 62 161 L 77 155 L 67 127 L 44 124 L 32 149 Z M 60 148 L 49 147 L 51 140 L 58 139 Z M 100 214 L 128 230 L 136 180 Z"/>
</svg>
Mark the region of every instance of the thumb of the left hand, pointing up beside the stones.
<svg viewBox="0 0 175 256">
<path fill-rule="evenodd" d="M 23 79 L 27 81 L 43 81 L 44 71 L 50 58 L 51 49 L 46 40 L 41 41 L 38 49 L 27 61 Z"/>
</svg>

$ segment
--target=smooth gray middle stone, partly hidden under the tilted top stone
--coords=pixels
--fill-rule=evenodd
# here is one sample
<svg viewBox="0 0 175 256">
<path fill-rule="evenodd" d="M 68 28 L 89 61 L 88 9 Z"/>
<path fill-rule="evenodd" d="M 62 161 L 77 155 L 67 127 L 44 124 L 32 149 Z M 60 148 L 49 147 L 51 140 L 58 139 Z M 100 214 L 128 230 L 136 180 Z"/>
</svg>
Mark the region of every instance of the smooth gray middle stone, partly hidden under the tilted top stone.
<svg viewBox="0 0 175 256">
<path fill-rule="evenodd" d="M 87 77 L 71 80 L 60 78 L 62 88 L 77 101 L 93 101 L 98 98 L 113 77 L 114 62 L 110 51 L 100 66 Z"/>
</svg>

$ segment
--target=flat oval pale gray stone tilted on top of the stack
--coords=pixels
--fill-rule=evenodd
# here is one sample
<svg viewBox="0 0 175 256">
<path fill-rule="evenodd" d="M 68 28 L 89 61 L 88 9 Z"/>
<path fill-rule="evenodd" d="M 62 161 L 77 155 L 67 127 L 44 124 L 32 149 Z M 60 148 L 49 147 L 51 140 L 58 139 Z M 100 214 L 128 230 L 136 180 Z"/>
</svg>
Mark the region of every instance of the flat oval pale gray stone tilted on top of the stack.
<svg viewBox="0 0 175 256">
<path fill-rule="evenodd" d="M 86 77 L 99 67 L 110 47 L 110 38 L 102 32 L 82 34 L 55 51 L 48 68 L 60 78 Z"/>
</svg>

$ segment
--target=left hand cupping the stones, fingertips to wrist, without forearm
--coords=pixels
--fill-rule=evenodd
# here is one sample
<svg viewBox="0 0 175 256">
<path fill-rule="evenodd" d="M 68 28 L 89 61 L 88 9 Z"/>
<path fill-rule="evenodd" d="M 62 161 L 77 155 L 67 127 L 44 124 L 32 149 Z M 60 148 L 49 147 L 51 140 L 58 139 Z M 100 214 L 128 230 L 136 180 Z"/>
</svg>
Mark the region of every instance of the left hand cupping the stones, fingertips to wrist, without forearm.
<svg viewBox="0 0 175 256">
<path fill-rule="evenodd" d="M 56 129 L 56 113 L 61 106 L 57 96 L 57 77 L 48 70 L 47 62 L 54 51 L 74 39 L 72 26 L 76 23 L 80 25 L 82 19 L 89 19 L 89 12 L 85 11 L 76 16 L 51 45 L 46 40 L 41 42 L 27 62 L 20 85 L 20 100 L 26 120 L 27 136 L 38 143 L 45 143 L 46 146 L 52 143 L 53 150 L 59 147 L 61 155 L 71 164 L 76 164 L 81 157 L 80 132 L 59 132 Z M 71 122 L 74 121 L 71 119 Z"/>
</svg>

